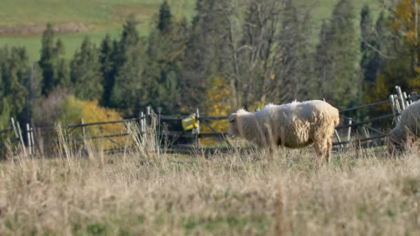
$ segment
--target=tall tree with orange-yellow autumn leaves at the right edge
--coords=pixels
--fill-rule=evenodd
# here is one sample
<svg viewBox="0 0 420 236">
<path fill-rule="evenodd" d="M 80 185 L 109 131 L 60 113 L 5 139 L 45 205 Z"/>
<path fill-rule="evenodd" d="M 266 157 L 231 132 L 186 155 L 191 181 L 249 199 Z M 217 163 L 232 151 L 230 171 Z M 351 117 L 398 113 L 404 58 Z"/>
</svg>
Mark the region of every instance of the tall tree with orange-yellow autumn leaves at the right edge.
<svg viewBox="0 0 420 236">
<path fill-rule="evenodd" d="M 420 90 L 420 25 L 416 23 L 415 3 L 420 0 L 400 0 L 394 6 L 389 21 L 390 30 L 401 43 L 403 50 L 396 59 L 385 61 L 385 65 L 376 76 L 374 84 L 365 85 L 365 102 L 371 103 L 388 99 L 395 93 L 394 86 L 408 86 L 408 92 Z M 420 14 L 420 12 L 419 12 Z M 372 108 L 371 112 L 389 112 L 388 105 Z"/>
</svg>

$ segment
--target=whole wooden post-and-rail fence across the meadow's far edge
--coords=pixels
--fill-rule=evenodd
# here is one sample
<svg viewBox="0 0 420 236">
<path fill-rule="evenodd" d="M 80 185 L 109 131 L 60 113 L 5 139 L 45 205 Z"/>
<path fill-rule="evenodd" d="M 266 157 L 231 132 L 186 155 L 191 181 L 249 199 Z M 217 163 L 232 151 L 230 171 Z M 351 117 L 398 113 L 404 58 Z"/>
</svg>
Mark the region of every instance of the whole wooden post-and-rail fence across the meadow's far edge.
<svg viewBox="0 0 420 236">
<path fill-rule="evenodd" d="M 368 124 L 372 124 L 374 121 L 380 121 L 385 119 L 392 119 L 393 123 L 399 121 L 399 117 L 401 112 L 409 106 L 414 100 L 419 99 L 420 96 L 417 93 L 411 93 L 407 95 L 406 92 L 402 92 L 399 86 L 396 86 L 397 93 L 395 95 L 389 95 L 389 99 L 386 101 L 379 101 L 372 104 L 365 104 L 362 106 L 356 106 L 353 108 L 346 108 L 340 110 L 341 120 L 345 121 L 345 124 L 341 124 L 340 126 L 336 127 L 336 141 L 334 141 L 334 146 L 339 146 L 343 148 L 348 144 L 356 144 L 356 146 L 363 146 L 363 147 L 370 147 L 370 146 L 381 146 L 384 144 L 383 139 L 388 136 L 387 133 L 369 126 Z M 372 108 L 375 106 L 382 106 L 384 104 L 390 104 L 390 110 L 392 113 L 381 115 L 379 117 L 372 117 L 370 119 L 366 119 L 364 121 L 356 121 L 352 119 L 352 117 L 346 117 L 344 114 L 346 112 L 351 112 L 355 110 L 367 109 Z M 26 126 L 21 126 L 19 122 L 15 121 L 15 119 L 11 119 L 11 127 L 6 128 L 5 130 L 0 130 L 0 135 L 6 135 L 7 141 L 5 141 L 0 146 L 5 148 L 10 146 L 10 144 L 16 144 L 17 146 L 21 146 L 21 150 L 23 150 L 24 155 L 35 155 L 35 153 L 44 153 L 44 145 L 46 144 L 55 144 L 55 141 L 43 141 L 41 132 L 43 131 L 54 131 L 56 128 L 61 128 L 62 130 L 66 130 L 68 134 L 80 128 L 82 131 L 82 137 L 74 138 L 73 141 L 79 142 L 82 146 L 86 147 L 86 141 L 94 140 L 94 139 L 107 139 L 112 141 L 113 143 L 117 144 L 122 148 L 126 149 L 126 144 L 119 144 L 117 141 L 113 140 L 117 137 L 126 137 L 129 134 L 127 130 L 124 132 L 111 134 L 111 135 L 97 135 L 97 136 L 90 136 L 86 132 L 86 127 L 88 126 L 104 126 L 109 124 L 128 124 L 130 122 L 137 122 L 139 125 L 140 133 L 146 132 L 146 127 L 151 125 L 152 117 L 157 117 L 160 121 L 158 124 L 162 126 L 162 124 L 167 124 L 170 122 L 178 122 L 180 123 L 182 119 L 191 118 L 191 115 L 155 115 L 151 107 L 147 107 L 145 112 L 140 112 L 138 117 L 131 118 L 131 119 L 122 119 L 117 121 L 99 121 L 93 123 L 84 123 L 84 119 L 82 118 L 80 124 L 69 124 L 65 126 L 55 127 L 35 127 L 33 122 L 32 124 L 26 124 Z M 216 130 L 211 126 L 211 121 L 220 121 L 226 120 L 227 117 L 225 116 L 200 116 L 200 112 L 197 109 L 193 114 L 193 119 L 195 119 L 195 127 L 192 130 L 168 130 L 162 128 L 162 131 L 158 132 L 160 137 L 165 137 L 165 139 L 169 139 L 169 143 L 166 145 L 170 148 L 182 148 L 182 145 L 177 145 L 177 142 L 184 138 L 189 139 L 190 144 L 193 146 L 200 146 L 200 139 L 201 138 L 215 138 L 225 141 L 227 146 L 231 146 L 229 141 L 225 138 L 226 133 L 221 132 L 220 130 Z M 200 126 L 206 126 L 212 132 L 200 132 Z M 126 126 L 127 127 L 127 126 Z M 24 128 L 24 129 L 23 129 Z M 356 131 L 356 128 L 363 128 L 363 133 L 360 134 Z M 160 128 L 158 130 L 161 130 Z M 371 136 L 371 132 L 375 135 Z M 352 135 L 356 133 L 356 139 L 352 138 Z M 8 136 L 9 135 L 9 136 Z M 12 137 L 10 137 L 10 135 Z M 110 151 L 116 151 L 115 150 Z"/>
</svg>

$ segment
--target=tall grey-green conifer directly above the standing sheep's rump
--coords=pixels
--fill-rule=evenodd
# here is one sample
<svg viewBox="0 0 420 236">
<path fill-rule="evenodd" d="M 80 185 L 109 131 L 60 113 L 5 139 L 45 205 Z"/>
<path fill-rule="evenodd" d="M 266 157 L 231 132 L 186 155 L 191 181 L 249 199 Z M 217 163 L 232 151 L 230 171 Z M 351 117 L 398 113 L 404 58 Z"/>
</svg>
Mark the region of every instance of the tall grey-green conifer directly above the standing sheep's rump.
<svg viewBox="0 0 420 236">
<path fill-rule="evenodd" d="M 323 24 L 317 47 L 316 69 L 322 86 L 318 96 L 337 107 L 349 106 L 361 97 L 354 19 L 352 1 L 338 1 L 330 26 Z"/>
</svg>

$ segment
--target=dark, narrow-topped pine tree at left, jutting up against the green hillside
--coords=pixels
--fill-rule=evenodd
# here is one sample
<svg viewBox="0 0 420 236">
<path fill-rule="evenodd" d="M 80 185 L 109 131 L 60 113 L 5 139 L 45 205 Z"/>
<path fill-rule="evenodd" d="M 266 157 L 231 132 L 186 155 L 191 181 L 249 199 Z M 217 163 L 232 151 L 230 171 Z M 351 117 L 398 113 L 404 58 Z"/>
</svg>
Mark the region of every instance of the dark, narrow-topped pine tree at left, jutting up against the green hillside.
<svg viewBox="0 0 420 236">
<path fill-rule="evenodd" d="M 41 58 L 39 67 L 42 70 L 42 94 L 48 93 L 57 86 L 68 85 L 68 68 L 64 65 L 64 44 L 61 40 L 55 42 L 53 25 L 47 24 L 42 36 Z"/>
</svg>

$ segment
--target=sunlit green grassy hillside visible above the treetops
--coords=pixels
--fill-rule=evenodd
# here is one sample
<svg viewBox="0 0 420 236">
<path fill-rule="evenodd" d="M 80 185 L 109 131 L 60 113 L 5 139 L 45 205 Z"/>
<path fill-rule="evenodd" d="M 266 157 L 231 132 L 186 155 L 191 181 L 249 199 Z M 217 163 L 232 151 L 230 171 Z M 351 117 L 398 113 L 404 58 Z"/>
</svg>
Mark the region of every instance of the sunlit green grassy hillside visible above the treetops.
<svg viewBox="0 0 420 236">
<path fill-rule="evenodd" d="M 303 0 L 298 0 L 303 1 Z M 28 25 L 44 26 L 48 22 L 85 23 L 88 30 L 77 33 L 63 33 L 59 37 L 64 40 L 66 57 L 73 56 L 79 48 L 83 38 L 88 35 L 99 43 L 106 33 L 112 37 L 120 35 L 122 22 L 130 13 L 135 13 L 140 21 L 139 30 L 147 35 L 153 14 L 158 11 L 160 0 L 3 0 L 0 8 L 0 28 L 17 28 Z M 314 30 L 318 30 L 321 19 L 330 17 L 336 0 L 314 0 Z M 191 17 L 193 14 L 193 0 L 169 0 L 176 17 Z M 369 3 L 377 9 L 376 0 L 355 0 L 357 14 L 364 3 Z M 318 35 L 317 32 L 314 35 Z M 35 61 L 39 57 L 41 33 L 15 33 L 0 35 L 0 46 L 26 46 L 30 59 Z"/>
</svg>

